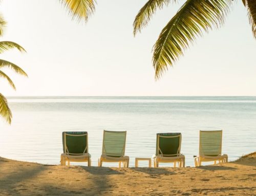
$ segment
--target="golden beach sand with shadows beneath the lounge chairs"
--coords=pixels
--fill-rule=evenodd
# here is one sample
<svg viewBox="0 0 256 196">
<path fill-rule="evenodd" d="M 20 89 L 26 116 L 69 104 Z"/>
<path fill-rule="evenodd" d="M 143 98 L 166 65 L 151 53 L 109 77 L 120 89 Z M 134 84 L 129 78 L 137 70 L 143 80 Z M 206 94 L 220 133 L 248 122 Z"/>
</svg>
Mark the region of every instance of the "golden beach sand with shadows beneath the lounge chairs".
<svg viewBox="0 0 256 196">
<path fill-rule="evenodd" d="M 0 195 L 256 195 L 256 152 L 197 168 L 118 169 L 0 158 Z"/>
</svg>

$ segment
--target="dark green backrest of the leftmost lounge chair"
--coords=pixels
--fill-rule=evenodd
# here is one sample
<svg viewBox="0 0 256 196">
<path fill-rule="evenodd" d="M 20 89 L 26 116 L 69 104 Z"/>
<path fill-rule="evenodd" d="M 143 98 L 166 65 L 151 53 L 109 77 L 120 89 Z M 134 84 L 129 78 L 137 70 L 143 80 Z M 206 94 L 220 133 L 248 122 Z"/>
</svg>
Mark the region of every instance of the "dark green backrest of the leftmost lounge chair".
<svg viewBox="0 0 256 196">
<path fill-rule="evenodd" d="M 88 153 L 87 132 L 62 132 L 63 153 L 83 155 Z"/>
</svg>

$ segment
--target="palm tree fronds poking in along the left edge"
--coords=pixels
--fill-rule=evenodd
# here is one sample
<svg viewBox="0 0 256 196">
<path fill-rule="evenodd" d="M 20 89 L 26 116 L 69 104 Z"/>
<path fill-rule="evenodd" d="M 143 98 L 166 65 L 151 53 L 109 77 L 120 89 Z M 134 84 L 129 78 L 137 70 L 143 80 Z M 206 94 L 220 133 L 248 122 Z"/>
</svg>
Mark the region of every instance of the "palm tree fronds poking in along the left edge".
<svg viewBox="0 0 256 196">
<path fill-rule="evenodd" d="M 0 16 L 0 36 L 3 35 L 3 30 L 6 25 L 5 20 L 3 17 Z M 0 41 L 0 54 L 3 53 L 6 50 L 16 48 L 20 52 L 26 52 L 25 49 L 21 46 L 19 46 L 17 43 L 12 42 L 12 41 Z M 23 71 L 20 67 L 16 66 L 16 64 L 9 62 L 7 60 L 0 59 L 0 69 L 8 67 L 12 69 L 14 72 L 27 76 L 26 72 Z M 0 77 L 6 79 L 11 87 L 16 90 L 15 85 L 11 78 L 9 78 L 8 75 L 6 75 L 3 71 L 0 70 Z M 11 124 L 11 119 L 12 119 L 12 113 L 11 110 L 8 106 L 8 102 L 6 97 L 0 93 L 0 116 L 2 116 L 9 124 Z"/>
</svg>

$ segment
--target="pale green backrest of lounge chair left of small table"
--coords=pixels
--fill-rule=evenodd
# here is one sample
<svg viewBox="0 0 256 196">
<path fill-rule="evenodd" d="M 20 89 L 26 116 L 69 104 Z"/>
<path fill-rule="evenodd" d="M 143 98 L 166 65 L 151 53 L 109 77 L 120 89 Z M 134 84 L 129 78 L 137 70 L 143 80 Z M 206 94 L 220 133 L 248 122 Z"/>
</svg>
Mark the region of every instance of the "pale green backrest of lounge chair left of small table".
<svg viewBox="0 0 256 196">
<path fill-rule="evenodd" d="M 102 142 L 102 155 L 109 157 L 122 157 L 125 151 L 126 131 L 112 132 L 104 130 Z"/>
</svg>

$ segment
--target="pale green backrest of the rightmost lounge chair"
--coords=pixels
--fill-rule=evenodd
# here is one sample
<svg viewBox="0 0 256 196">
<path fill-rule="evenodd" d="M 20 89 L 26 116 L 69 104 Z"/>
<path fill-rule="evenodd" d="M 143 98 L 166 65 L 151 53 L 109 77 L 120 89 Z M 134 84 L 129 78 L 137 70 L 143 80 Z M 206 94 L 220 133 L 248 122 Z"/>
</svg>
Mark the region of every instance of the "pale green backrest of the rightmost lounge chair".
<svg viewBox="0 0 256 196">
<path fill-rule="evenodd" d="M 222 147 L 222 130 L 200 130 L 200 156 L 219 156 Z"/>
</svg>

